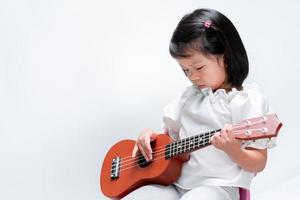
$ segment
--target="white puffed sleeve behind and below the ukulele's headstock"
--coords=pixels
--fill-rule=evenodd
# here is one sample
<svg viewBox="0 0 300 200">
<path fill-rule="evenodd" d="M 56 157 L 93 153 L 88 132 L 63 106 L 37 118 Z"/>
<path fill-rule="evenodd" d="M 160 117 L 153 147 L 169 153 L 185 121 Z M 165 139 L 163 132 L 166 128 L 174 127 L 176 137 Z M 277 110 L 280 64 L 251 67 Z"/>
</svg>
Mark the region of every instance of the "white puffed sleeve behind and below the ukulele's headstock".
<svg viewBox="0 0 300 200">
<path fill-rule="evenodd" d="M 272 112 L 267 98 L 257 89 L 245 90 L 236 95 L 231 103 L 232 122 L 239 123 L 242 120 L 259 117 Z M 266 149 L 276 146 L 276 139 L 266 138 L 255 141 L 247 141 L 242 147 Z"/>
</svg>

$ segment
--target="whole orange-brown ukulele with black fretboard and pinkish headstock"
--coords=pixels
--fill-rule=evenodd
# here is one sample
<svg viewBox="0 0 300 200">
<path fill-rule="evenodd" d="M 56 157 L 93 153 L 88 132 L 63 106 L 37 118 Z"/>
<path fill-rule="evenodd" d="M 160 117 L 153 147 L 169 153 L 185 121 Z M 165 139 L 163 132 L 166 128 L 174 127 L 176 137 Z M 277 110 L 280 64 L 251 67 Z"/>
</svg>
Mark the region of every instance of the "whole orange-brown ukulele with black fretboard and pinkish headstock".
<svg viewBox="0 0 300 200">
<path fill-rule="evenodd" d="M 276 137 L 282 124 L 275 113 L 243 120 L 232 126 L 236 139 L 255 141 Z M 173 141 L 167 134 L 158 134 L 151 142 L 153 159 L 140 154 L 131 157 L 135 140 L 122 140 L 107 152 L 100 175 L 100 187 L 109 198 L 120 199 L 131 191 L 147 185 L 170 185 L 180 176 L 183 155 L 210 145 L 210 137 L 221 129 Z"/>
</svg>

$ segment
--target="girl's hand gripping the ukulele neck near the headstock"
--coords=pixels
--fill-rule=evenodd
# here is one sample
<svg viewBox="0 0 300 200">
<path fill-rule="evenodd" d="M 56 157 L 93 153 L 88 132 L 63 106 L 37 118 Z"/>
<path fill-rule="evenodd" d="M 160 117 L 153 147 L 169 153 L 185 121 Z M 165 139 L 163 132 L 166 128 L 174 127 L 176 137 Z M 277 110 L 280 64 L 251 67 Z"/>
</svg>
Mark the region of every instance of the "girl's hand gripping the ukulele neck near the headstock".
<svg viewBox="0 0 300 200">
<path fill-rule="evenodd" d="M 216 148 L 221 149 L 228 155 L 241 151 L 242 141 L 235 138 L 232 125 L 225 124 L 224 128 L 210 138 L 210 142 Z"/>
</svg>

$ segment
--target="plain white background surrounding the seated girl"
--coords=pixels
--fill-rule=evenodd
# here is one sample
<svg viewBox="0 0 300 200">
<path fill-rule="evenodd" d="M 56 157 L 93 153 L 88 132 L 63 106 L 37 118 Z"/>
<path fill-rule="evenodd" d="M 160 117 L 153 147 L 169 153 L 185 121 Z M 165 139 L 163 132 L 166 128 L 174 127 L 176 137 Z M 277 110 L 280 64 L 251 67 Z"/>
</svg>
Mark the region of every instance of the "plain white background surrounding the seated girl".
<svg viewBox="0 0 300 200">
<path fill-rule="evenodd" d="M 160 131 L 164 105 L 189 85 L 168 44 L 181 17 L 200 7 L 235 24 L 247 82 L 262 87 L 284 123 L 253 199 L 297 199 L 296 0 L 1 0 L 0 199 L 105 199 L 105 152 L 142 128 Z"/>
</svg>

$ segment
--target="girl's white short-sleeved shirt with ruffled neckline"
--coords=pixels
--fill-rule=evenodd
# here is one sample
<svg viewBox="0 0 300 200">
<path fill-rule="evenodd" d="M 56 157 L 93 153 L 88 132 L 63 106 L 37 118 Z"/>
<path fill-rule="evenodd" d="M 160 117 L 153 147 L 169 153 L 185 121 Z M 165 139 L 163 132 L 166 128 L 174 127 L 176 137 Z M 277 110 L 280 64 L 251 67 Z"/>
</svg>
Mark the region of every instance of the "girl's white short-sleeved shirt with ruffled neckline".
<svg viewBox="0 0 300 200">
<path fill-rule="evenodd" d="M 182 139 L 213 131 L 225 124 L 271 112 L 257 84 L 245 85 L 242 91 L 233 88 L 212 92 L 211 88 L 190 86 L 164 109 L 163 126 L 174 139 Z M 264 149 L 275 146 L 275 140 L 260 139 L 242 147 Z M 249 189 L 254 173 L 243 170 L 230 157 L 210 145 L 191 153 L 181 176 L 175 183 L 184 189 L 199 185 L 236 186 Z"/>
</svg>

